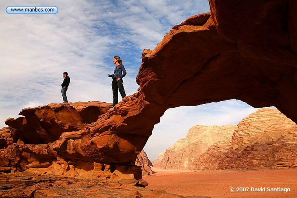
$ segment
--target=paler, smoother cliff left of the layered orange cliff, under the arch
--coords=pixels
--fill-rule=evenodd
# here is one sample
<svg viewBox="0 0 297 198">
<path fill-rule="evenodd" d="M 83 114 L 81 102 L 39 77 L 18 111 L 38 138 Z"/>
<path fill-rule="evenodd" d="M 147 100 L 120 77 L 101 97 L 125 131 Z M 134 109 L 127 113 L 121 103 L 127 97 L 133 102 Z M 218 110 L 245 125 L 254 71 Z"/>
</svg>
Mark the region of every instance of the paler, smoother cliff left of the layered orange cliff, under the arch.
<svg viewBox="0 0 297 198">
<path fill-rule="evenodd" d="M 161 161 L 161 168 L 188 169 L 211 145 L 219 140 L 231 141 L 236 125 L 203 126 L 196 125 L 189 129 L 186 138 L 179 139 L 169 147 Z"/>
</svg>

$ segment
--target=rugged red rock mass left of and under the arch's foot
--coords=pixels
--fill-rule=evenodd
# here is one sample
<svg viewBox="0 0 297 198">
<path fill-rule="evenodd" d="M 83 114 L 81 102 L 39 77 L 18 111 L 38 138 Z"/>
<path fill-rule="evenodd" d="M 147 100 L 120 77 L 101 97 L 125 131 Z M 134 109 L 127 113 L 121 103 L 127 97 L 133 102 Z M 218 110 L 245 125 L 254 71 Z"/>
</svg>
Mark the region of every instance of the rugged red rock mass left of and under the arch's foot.
<svg viewBox="0 0 297 198">
<path fill-rule="evenodd" d="M 49 104 L 26 108 L 0 129 L 0 172 L 57 174 L 110 180 L 141 179 L 141 166 L 97 163 L 86 156 L 91 122 L 109 109 L 105 102 Z M 98 157 L 108 158 L 100 155 Z"/>
</svg>

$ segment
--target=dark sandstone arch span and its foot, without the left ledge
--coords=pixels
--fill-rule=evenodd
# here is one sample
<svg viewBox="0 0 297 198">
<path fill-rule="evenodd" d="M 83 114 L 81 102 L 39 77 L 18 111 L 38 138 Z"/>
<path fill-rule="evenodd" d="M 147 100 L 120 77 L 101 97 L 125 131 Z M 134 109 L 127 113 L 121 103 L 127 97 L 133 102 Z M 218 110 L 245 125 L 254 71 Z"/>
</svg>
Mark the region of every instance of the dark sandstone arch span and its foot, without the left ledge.
<svg viewBox="0 0 297 198">
<path fill-rule="evenodd" d="M 209 2 L 143 51 L 138 92 L 87 129 L 84 155 L 133 164 L 163 113 L 183 105 L 239 99 L 297 121 L 296 1 Z"/>
</svg>

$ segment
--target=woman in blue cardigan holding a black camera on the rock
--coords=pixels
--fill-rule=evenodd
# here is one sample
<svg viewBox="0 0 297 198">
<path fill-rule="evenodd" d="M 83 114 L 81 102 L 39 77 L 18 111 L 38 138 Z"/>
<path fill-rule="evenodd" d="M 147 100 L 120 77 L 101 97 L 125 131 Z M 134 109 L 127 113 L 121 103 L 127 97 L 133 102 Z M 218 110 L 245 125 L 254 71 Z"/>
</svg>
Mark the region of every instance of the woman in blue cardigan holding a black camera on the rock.
<svg viewBox="0 0 297 198">
<path fill-rule="evenodd" d="M 116 104 L 118 104 L 119 91 L 122 98 L 126 96 L 122 78 L 127 74 L 127 72 L 122 62 L 123 61 L 119 56 L 113 57 L 113 63 L 116 64 L 116 68 L 113 71 L 114 76 L 111 83 L 112 93 L 113 93 L 113 104 L 110 107 L 114 107 Z"/>
</svg>

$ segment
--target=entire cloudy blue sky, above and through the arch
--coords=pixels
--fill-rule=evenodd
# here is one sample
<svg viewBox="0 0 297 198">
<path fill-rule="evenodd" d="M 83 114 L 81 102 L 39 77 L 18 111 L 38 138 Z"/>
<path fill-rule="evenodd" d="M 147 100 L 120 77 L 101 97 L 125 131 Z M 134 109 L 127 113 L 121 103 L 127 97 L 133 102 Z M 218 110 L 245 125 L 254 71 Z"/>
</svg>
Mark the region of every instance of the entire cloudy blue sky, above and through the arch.
<svg viewBox="0 0 297 198">
<path fill-rule="evenodd" d="M 8 14 L 8 6 L 56 6 L 57 14 Z M 127 95 L 143 49 L 154 49 L 170 29 L 209 11 L 207 0 L 1 0 L 0 128 L 21 109 L 60 103 L 62 73 L 69 102 L 112 102 L 113 56 L 124 60 Z M 145 146 L 149 159 L 165 151 L 191 126 L 236 124 L 256 109 L 229 100 L 165 112 Z"/>
</svg>

